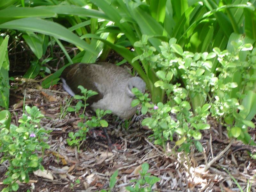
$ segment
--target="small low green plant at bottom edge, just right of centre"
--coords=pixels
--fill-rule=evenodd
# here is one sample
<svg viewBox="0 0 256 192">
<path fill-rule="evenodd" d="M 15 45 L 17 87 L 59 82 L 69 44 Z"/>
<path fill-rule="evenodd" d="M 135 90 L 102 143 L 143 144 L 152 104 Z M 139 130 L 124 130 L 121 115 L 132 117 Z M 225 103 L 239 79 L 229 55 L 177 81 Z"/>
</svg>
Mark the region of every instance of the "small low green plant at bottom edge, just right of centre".
<svg viewBox="0 0 256 192">
<path fill-rule="evenodd" d="M 148 163 L 143 163 L 141 168 L 142 170 L 140 171 L 140 179 L 131 180 L 131 182 L 136 182 L 136 184 L 134 187 L 127 186 L 126 190 L 131 192 L 150 192 L 152 191 L 153 185 L 160 180 L 160 178 L 156 176 L 150 176 L 150 173 L 147 173 L 149 168 Z"/>
</svg>

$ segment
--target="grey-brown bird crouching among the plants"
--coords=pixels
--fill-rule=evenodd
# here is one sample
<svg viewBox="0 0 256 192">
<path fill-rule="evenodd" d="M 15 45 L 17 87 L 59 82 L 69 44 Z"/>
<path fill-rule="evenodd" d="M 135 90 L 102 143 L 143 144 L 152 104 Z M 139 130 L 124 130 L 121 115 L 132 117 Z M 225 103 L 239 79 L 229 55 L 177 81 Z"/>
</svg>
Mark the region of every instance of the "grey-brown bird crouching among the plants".
<svg viewBox="0 0 256 192">
<path fill-rule="evenodd" d="M 137 109 L 131 106 L 134 99 L 132 88 L 141 92 L 146 88 L 140 77 L 133 77 L 124 68 L 110 63 L 70 65 L 62 72 L 61 80 L 63 88 L 72 96 L 80 93 L 78 85 L 98 92 L 87 100 L 92 109 L 108 109 L 124 119 L 132 117 Z"/>
</svg>

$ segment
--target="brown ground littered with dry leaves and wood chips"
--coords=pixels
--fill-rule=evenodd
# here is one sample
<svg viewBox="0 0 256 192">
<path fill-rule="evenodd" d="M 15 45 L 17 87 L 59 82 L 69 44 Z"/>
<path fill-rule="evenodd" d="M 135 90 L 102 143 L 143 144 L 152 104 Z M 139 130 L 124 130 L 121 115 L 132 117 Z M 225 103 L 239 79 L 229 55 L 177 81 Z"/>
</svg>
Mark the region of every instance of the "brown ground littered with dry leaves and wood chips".
<svg viewBox="0 0 256 192">
<path fill-rule="evenodd" d="M 15 51 L 15 50 L 14 50 Z M 21 52 L 21 54 L 24 52 Z M 59 54 L 57 59 L 63 62 Z M 55 56 L 56 56 L 55 54 Z M 29 57 L 28 56 L 25 57 Z M 112 53 L 113 55 L 113 53 Z M 18 62 L 19 55 L 15 57 Z M 20 58 L 19 58 L 20 59 Z M 22 60 L 22 59 L 21 59 Z M 119 60 L 120 57 L 108 58 L 108 61 Z M 28 63 L 28 62 L 27 62 Z M 17 64 L 17 66 L 20 66 Z M 18 72 L 25 73 L 26 68 L 20 68 Z M 52 69 L 52 68 L 51 68 Z M 12 67 L 10 72 L 15 74 L 17 67 Z M 55 69 L 56 70 L 56 69 Z M 45 115 L 41 121 L 45 129 L 51 130 L 49 140 L 51 148 L 46 151 L 42 162 L 44 168 L 52 173 L 54 179 L 48 180 L 30 174 L 29 184 L 20 184 L 19 192 L 30 189 L 34 192 L 89 192 L 100 189 L 108 189 L 109 178 L 118 169 L 118 180 L 112 191 L 125 191 L 125 186 L 134 185 L 130 180 L 138 179 L 138 170 L 144 162 L 149 164 L 149 172 L 161 180 L 154 185 L 154 191 L 239 191 L 235 182 L 222 168 L 226 168 L 246 191 L 247 180 L 252 182 L 251 191 L 256 191 L 256 161 L 253 160 L 243 143 L 235 141 L 223 156 L 204 172 L 204 166 L 227 147 L 229 139 L 224 127 L 218 126 L 214 119 L 209 119 L 211 129 L 202 132 L 200 140 L 204 146 L 204 152 L 199 153 L 192 147 L 191 153 L 184 155 L 174 148 L 175 142 L 167 144 L 166 152 L 160 146 L 154 146 L 148 139 L 152 134 L 146 127 L 141 127 L 143 116 L 135 115 L 128 128 L 124 122 L 116 116 L 108 116 L 108 134 L 112 143 L 118 148 L 108 150 L 107 140 L 103 137 L 88 135 L 84 144 L 77 151 L 68 146 L 66 139 L 68 132 L 77 130 L 79 118 L 74 113 L 68 113 L 60 119 L 60 104 L 65 104 L 69 98 L 62 89 L 61 84 L 52 86 L 48 90 L 40 89 L 38 83 L 14 81 L 11 83 L 10 110 L 12 111 L 12 123 L 18 124 L 22 115 L 22 106 L 14 109 L 13 105 L 24 98 L 26 89 L 26 104 L 36 105 Z M 51 95 L 50 97 L 47 95 Z M 45 97 L 46 96 L 46 97 Z M 56 99 L 54 100 L 52 97 Z M 75 102 L 73 102 L 75 105 Z M 93 114 L 86 110 L 88 116 Z M 249 130 L 255 140 L 255 129 Z M 251 148 L 255 153 L 255 148 Z M 0 182 L 5 178 L 4 165 L 0 166 Z M 76 180 L 80 184 L 76 184 Z M 0 183 L 0 190 L 5 186 Z"/>
</svg>

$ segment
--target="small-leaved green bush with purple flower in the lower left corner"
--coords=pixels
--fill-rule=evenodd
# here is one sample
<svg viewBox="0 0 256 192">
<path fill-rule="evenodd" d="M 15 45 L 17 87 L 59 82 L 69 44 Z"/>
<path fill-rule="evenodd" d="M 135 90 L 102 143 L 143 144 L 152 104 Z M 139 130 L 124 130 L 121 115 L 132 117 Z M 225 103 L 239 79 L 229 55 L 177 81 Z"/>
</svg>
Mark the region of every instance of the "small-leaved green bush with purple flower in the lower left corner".
<svg viewBox="0 0 256 192">
<path fill-rule="evenodd" d="M 25 106 L 27 114 L 23 114 L 19 119 L 19 127 L 14 124 L 5 126 L 0 131 L 0 152 L 3 154 L 0 163 L 8 160 L 9 167 L 5 173 L 7 178 L 3 181 L 8 187 L 2 192 L 17 191 L 18 183 L 28 182 L 28 173 L 38 169 L 43 170 L 41 165 L 43 157 L 39 157 L 35 151 L 44 154 L 45 148 L 50 148 L 45 140 L 48 139 L 46 131 L 40 126 L 40 120 L 44 117 L 37 107 Z"/>
</svg>

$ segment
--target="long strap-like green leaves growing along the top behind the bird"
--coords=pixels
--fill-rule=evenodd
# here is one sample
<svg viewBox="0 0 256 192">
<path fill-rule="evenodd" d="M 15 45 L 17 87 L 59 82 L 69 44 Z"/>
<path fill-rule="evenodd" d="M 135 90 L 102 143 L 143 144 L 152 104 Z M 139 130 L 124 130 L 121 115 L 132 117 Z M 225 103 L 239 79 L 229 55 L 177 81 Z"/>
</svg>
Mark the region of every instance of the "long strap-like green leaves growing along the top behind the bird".
<svg viewBox="0 0 256 192">
<path fill-rule="evenodd" d="M 142 34 L 149 36 L 150 46 L 158 53 L 161 52 L 161 42 L 169 42 L 172 37 L 177 39 L 177 43 L 185 51 L 193 52 L 210 52 L 213 47 L 223 50 L 233 34 L 245 34 L 246 38 L 252 39 L 252 44 L 255 43 L 255 0 L 90 2 L 81 0 L 31 3 L 13 0 L 0 4 L 1 31 L 22 31 L 23 38 L 35 53 L 36 59 L 29 68 L 28 77 L 38 74 L 42 66 L 37 60 L 43 58 L 48 45 L 57 43 L 69 64 L 95 62 L 101 51 L 100 59 L 104 60 L 111 48 L 132 64 L 146 82 L 152 101 L 157 103 L 164 99 L 163 90 L 154 86 L 159 80 L 156 76 L 159 68 L 152 69 L 145 61 L 141 61 L 142 66 L 137 61 L 132 63 L 134 57 L 143 53 L 135 44 L 142 39 Z M 70 56 L 60 40 L 75 44 L 81 52 Z M 130 46 L 134 47 L 134 52 L 126 49 Z M 213 59 L 212 72 L 218 67 L 217 63 Z M 46 78 L 42 86 L 48 88 L 56 84 L 65 67 Z M 194 102 L 196 101 L 192 101 L 192 106 L 195 105 Z"/>
</svg>

